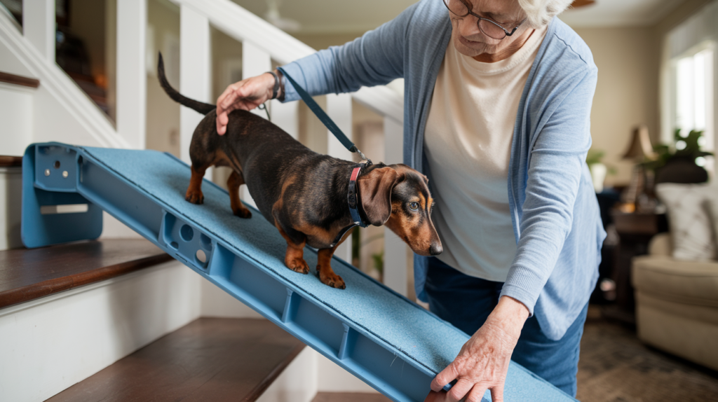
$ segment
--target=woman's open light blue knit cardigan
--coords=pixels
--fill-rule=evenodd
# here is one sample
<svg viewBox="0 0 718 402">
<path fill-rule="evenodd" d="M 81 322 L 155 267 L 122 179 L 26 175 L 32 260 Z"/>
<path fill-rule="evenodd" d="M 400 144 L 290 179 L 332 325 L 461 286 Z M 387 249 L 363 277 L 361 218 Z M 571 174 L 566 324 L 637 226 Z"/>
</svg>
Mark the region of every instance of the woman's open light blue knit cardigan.
<svg viewBox="0 0 718 402">
<path fill-rule="evenodd" d="M 404 77 L 404 163 L 430 178 L 424 127 L 451 31 L 442 1 L 422 0 L 353 42 L 283 68 L 312 95 Z M 501 292 L 523 302 L 554 340 L 588 302 L 605 238 L 584 162 L 596 80 L 587 45 L 554 18 L 516 115 L 507 188 L 517 251 Z M 285 100 L 297 100 L 294 87 L 285 85 Z M 425 257 L 414 258 L 414 280 L 425 300 Z"/>
</svg>

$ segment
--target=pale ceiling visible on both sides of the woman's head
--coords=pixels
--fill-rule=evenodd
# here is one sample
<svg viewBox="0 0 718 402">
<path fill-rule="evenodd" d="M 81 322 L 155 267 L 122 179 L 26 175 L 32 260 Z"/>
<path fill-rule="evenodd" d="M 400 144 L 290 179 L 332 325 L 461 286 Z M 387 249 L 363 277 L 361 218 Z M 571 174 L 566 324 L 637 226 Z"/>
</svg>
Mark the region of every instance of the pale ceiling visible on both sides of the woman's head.
<svg viewBox="0 0 718 402">
<path fill-rule="evenodd" d="M 232 0 L 263 16 L 263 0 Z M 440 0 L 435 0 L 440 1 Z M 580 9 L 569 9 L 561 19 L 572 27 L 625 27 L 655 24 L 685 0 L 596 0 Z M 284 0 L 283 18 L 302 24 L 299 33 L 356 33 L 374 29 L 397 16 L 416 0 Z"/>
</svg>

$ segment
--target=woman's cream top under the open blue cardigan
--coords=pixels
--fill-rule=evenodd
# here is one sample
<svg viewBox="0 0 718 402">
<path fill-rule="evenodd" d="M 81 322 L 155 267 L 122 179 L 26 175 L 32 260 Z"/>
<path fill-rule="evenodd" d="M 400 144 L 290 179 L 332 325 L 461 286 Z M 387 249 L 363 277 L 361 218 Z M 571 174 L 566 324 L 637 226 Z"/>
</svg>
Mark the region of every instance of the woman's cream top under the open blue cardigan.
<svg viewBox="0 0 718 402">
<path fill-rule="evenodd" d="M 508 206 L 508 163 L 523 87 L 546 27 L 515 54 L 477 62 L 449 42 L 439 70 L 424 149 L 436 201 L 432 220 L 442 262 L 472 277 L 505 282 L 516 254 Z"/>
</svg>

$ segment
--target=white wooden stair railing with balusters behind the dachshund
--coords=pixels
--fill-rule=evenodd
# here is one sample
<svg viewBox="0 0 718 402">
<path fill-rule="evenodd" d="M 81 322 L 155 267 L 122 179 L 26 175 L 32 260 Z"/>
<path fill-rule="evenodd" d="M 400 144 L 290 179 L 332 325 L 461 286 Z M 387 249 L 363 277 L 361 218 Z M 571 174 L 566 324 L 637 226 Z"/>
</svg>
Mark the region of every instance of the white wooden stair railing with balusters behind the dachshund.
<svg viewBox="0 0 718 402">
<path fill-rule="evenodd" d="M 180 90 L 197 100 L 213 102 L 210 99 L 210 24 L 242 42 L 245 77 L 270 70 L 273 61 L 286 64 L 315 52 L 230 0 L 171 1 L 180 6 Z M 33 75 L 42 81 L 43 88 L 52 92 L 62 107 L 99 145 L 145 148 L 147 0 L 117 0 L 114 3 L 117 7 L 117 129 L 54 62 L 55 0 L 25 0 L 24 34 L 19 34 L 9 20 L 0 21 L 0 40 L 32 70 Z M 113 1 L 108 2 L 108 5 L 111 4 Z M 387 87 L 363 87 L 352 94 L 327 95 L 326 98 L 327 113 L 350 137 L 352 100 L 381 115 L 386 147 L 384 162 L 401 163 L 404 107 L 400 95 Z M 275 100 L 271 103 L 271 111 L 274 123 L 296 138 L 299 115 L 297 102 L 281 104 Z M 180 149 L 182 159 L 187 162 L 192 133 L 201 118 L 195 111 L 182 107 Z M 37 123 L 34 140 L 50 139 L 47 135 L 37 134 L 46 128 L 45 125 L 42 121 Z M 47 133 L 52 133 L 52 127 L 47 126 L 46 129 Z M 337 158 L 351 158 L 350 153 L 328 131 L 327 150 Z M 250 200 L 248 194 L 244 194 L 244 199 Z M 384 282 L 396 292 L 406 295 L 406 245 L 388 230 L 385 231 L 384 245 Z M 350 242 L 342 244 L 336 254 L 350 261 Z"/>
</svg>

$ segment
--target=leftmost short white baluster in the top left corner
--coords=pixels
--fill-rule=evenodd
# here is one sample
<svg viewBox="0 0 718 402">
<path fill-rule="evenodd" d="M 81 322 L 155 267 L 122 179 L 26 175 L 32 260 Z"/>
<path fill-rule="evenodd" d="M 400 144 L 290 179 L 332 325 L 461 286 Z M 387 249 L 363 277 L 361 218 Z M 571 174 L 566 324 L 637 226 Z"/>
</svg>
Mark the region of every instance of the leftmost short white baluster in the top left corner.
<svg viewBox="0 0 718 402">
<path fill-rule="evenodd" d="M 22 32 L 43 57 L 55 62 L 55 0 L 24 0 Z"/>
</svg>

